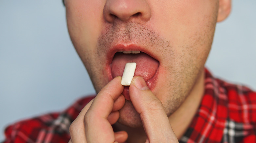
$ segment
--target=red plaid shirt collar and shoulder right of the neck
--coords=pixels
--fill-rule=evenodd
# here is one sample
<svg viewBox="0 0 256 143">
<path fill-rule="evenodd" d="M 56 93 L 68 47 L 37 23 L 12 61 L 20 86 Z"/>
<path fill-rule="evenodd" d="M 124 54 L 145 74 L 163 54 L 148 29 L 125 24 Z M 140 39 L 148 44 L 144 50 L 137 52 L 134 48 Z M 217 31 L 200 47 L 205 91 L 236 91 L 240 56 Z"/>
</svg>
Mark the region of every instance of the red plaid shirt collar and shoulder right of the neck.
<svg viewBox="0 0 256 143">
<path fill-rule="evenodd" d="M 204 96 L 181 142 L 256 142 L 256 93 L 206 69 Z"/>
</svg>

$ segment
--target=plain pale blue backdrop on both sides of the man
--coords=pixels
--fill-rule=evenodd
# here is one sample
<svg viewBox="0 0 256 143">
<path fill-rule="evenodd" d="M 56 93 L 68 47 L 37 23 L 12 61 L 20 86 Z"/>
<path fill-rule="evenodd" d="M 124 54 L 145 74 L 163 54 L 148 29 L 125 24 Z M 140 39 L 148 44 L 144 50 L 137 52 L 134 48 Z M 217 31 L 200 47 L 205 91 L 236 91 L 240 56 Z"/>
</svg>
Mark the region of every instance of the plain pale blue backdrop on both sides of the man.
<svg viewBox="0 0 256 143">
<path fill-rule="evenodd" d="M 256 1 L 234 0 L 217 24 L 206 67 L 256 89 Z M 94 94 L 69 39 L 61 0 L 0 0 L 0 140 L 21 119 L 62 111 Z"/>
</svg>

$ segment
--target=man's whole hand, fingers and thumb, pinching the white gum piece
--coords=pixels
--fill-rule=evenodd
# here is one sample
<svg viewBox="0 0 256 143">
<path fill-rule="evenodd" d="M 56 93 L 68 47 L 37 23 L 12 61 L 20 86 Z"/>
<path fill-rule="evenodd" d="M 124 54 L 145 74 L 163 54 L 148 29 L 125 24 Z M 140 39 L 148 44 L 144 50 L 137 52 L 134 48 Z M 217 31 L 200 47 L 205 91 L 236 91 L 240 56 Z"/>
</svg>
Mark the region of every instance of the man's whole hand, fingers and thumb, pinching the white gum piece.
<svg viewBox="0 0 256 143">
<path fill-rule="evenodd" d="M 121 77 L 114 78 L 80 112 L 70 126 L 69 143 L 124 142 L 124 131 L 114 133 L 111 124 L 119 118 L 118 110 L 125 99 L 120 95 L 123 86 Z M 142 77 L 134 77 L 129 88 L 131 101 L 140 114 L 147 135 L 146 142 L 178 142 L 161 101 L 149 90 Z M 120 95 L 120 96 L 119 96 Z"/>
</svg>

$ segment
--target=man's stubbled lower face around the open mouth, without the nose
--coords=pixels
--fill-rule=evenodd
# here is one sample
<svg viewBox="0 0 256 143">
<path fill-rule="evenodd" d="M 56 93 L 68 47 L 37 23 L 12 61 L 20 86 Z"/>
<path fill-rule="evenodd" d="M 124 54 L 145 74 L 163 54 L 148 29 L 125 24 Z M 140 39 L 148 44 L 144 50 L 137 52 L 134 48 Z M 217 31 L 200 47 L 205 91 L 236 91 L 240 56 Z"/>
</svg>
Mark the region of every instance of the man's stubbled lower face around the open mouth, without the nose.
<svg viewBox="0 0 256 143">
<path fill-rule="evenodd" d="M 72 2 L 67 3 L 70 37 L 96 92 L 115 76 L 122 76 L 127 62 L 136 62 L 135 76 L 144 78 L 150 90 L 162 102 L 166 114 L 171 115 L 189 95 L 202 74 L 216 24 L 217 9 L 211 6 L 213 2 L 206 2 L 209 3 L 208 7 L 213 8 L 213 12 L 209 8 L 193 9 L 188 5 L 187 8 L 198 10 L 191 14 L 185 13 L 186 8 L 181 7 L 183 9 L 180 11 L 185 18 L 195 16 L 197 21 L 186 21 L 179 18 L 179 13 L 171 13 L 171 16 L 179 18 L 177 21 L 168 21 L 170 24 L 173 22 L 172 25 L 154 22 L 158 17 L 152 17 L 149 22 L 116 20 L 108 23 L 102 20 L 101 16 L 90 20 L 96 14 L 81 17 L 87 11 L 83 11 L 84 8 L 78 4 L 74 8 L 81 7 L 77 9 L 82 12 L 75 11 L 73 5 L 69 4 Z M 93 8 L 88 9 L 93 11 Z M 209 11 L 202 15 L 204 19 L 196 17 L 202 10 Z M 164 19 L 161 22 L 164 22 Z M 163 28 L 168 31 L 163 31 L 157 24 L 164 25 Z M 139 54 L 133 54 L 138 51 Z M 119 121 L 131 127 L 138 127 L 141 121 L 129 101 L 128 87 L 124 88 L 123 94 L 127 102 L 120 110 Z"/>
</svg>

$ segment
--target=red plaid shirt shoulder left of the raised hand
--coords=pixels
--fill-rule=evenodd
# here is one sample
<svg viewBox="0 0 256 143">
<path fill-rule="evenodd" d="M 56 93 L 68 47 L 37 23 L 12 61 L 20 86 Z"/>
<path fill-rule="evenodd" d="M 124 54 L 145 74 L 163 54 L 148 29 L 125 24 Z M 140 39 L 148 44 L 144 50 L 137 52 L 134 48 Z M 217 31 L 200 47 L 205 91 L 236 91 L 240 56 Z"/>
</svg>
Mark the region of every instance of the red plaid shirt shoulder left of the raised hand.
<svg viewBox="0 0 256 143">
<path fill-rule="evenodd" d="M 6 139 L 3 143 L 68 142 L 70 124 L 93 98 L 79 99 L 63 112 L 45 114 L 9 125 L 5 129 Z"/>
</svg>

